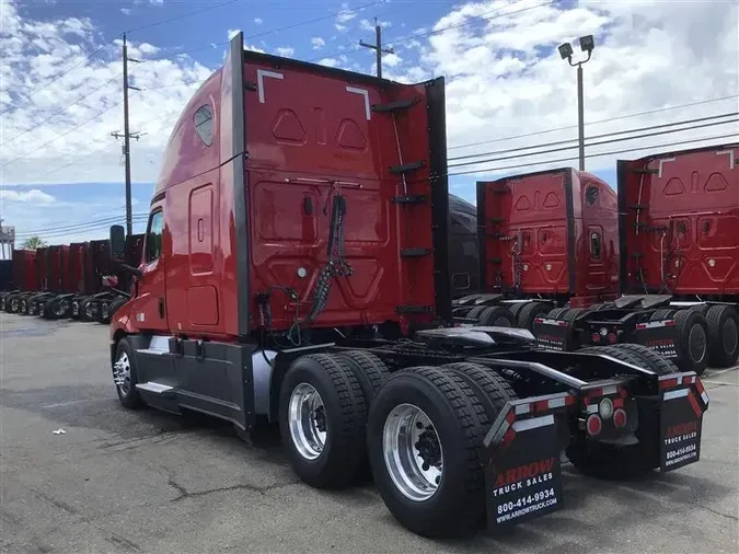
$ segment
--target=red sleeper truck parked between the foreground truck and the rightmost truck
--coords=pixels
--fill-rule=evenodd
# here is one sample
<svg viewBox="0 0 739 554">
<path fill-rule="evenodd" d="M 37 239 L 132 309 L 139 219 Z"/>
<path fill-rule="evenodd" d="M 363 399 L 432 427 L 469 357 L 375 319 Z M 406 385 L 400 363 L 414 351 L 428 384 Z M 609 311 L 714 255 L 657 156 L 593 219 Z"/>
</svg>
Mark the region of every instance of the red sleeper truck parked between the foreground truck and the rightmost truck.
<svg viewBox="0 0 739 554">
<path fill-rule="evenodd" d="M 555 308 L 619 296 L 615 192 L 563 168 L 477 183 L 480 292 L 454 315 L 532 330 Z"/>
</svg>

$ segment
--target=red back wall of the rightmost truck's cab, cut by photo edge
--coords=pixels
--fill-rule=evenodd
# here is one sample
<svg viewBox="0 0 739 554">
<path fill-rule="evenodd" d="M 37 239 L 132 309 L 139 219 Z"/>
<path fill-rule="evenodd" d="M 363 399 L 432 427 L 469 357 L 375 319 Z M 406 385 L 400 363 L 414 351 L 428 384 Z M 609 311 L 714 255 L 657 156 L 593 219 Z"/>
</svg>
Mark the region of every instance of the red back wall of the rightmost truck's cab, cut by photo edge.
<svg viewBox="0 0 739 554">
<path fill-rule="evenodd" d="M 739 293 L 739 145 L 619 161 L 625 291 Z"/>
</svg>

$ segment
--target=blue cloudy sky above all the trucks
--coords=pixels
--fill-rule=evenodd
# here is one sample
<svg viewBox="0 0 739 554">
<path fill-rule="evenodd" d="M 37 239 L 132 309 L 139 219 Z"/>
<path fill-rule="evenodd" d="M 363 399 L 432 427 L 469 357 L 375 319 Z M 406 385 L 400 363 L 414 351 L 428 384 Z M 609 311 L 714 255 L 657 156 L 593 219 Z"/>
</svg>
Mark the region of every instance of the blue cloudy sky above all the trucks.
<svg viewBox="0 0 739 554">
<path fill-rule="evenodd" d="M 374 72 L 357 46 L 372 42 L 374 18 L 395 50 L 385 77 L 446 76 L 450 188 L 470 200 L 481 175 L 577 164 L 576 72 L 556 47 L 574 41 L 580 59 L 587 34 L 589 171 L 615 186 L 616 158 L 739 138 L 737 0 L 0 0 L 0 217 L 19 242 L 100 238 L 120 221 L 111 132 L 123 130 L 122 32 L 141 61 L 130 69 L 141 229 L 170 129 L 230 33 L 251 49 Z"/>
</svg>

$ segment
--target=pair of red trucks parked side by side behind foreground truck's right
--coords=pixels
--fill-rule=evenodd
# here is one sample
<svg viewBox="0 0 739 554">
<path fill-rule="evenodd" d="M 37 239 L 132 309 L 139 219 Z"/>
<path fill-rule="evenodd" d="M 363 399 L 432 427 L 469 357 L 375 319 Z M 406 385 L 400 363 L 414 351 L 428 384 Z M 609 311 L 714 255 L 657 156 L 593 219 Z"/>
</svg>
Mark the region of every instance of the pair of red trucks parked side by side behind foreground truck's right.
<svg viewBox="0 0 739 554">
<path fill-rule="evenodd" d="M 739 357 L 739 145 L 477 183 L 480 288 L 454 314 L 544 348 L 635 343 L 701 374 Z M 467 264 L 472 265 L 472 264 Z"/>
</svg>

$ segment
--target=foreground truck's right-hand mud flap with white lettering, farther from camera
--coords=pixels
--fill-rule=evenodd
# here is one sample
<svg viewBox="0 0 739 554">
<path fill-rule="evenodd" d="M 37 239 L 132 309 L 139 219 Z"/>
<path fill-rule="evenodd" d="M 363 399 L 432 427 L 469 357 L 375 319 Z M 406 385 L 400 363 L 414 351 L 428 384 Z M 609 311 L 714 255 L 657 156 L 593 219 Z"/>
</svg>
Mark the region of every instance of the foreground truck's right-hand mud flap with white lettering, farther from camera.
<svg viewBox="0 0 739 554">
<path fill-rule="evenodd" d="M 659 378 L 660 471 L 677 470 L 701 459 L 703 414 L 708 393 L 692 371 Z"/>
</svg>

